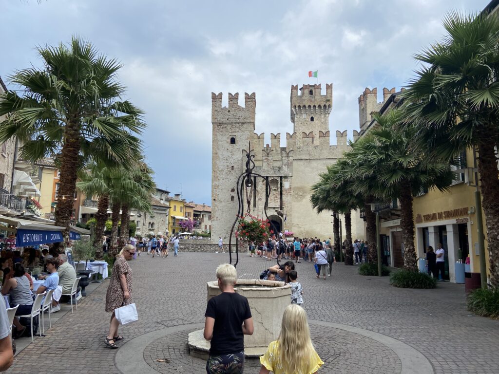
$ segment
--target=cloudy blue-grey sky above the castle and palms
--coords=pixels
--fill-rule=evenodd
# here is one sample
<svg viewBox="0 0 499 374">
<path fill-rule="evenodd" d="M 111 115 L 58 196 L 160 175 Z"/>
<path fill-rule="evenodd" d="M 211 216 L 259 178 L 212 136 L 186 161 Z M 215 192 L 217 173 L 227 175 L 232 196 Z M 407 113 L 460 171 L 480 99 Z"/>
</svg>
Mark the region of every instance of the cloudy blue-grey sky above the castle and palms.
<svg viewBox="0 0 499 374">
<path fill-rule="evenodd" d="M 211 201 L 211 92 L 256 92 L 256 132 L 292 132 L 291 84 L 333 83 L 330 130 L 358 129 L 365 87 L 405 85 L 412 55 L 444 34 L 450 10 L 489 0 L 0 0 L 0 75 L 39 66 L 36 45 L 89 39 L 124 67 L 146 111 L 144 152 L 158 187 Z M 378 96 L 381 101 L 381 95 Z M 281 137 L 285 142 L 285 137 Z M 331 138 L 334 142 L 335 139 Z M 285 146 L 284 142 L 281 146 Z"/>
</svg>

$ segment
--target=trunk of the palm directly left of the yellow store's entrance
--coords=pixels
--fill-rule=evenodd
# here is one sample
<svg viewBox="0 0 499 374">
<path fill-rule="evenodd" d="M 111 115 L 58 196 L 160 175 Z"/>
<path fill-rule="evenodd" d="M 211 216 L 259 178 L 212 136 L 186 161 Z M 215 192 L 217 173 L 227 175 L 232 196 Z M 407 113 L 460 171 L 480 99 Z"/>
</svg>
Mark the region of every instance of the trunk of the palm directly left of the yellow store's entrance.
<svg viewBox="0 0 499 374">
<path fill-rule="evenodd" d="M 400 200 L 400 227 L 402 228 L 402 242 L 404 243 L 404 268 L 418 271 L 416 248 L 414 247 L 414 214 L 412 210 L 413 196 L 410 182 L 401 182 Z"/>
</svg>

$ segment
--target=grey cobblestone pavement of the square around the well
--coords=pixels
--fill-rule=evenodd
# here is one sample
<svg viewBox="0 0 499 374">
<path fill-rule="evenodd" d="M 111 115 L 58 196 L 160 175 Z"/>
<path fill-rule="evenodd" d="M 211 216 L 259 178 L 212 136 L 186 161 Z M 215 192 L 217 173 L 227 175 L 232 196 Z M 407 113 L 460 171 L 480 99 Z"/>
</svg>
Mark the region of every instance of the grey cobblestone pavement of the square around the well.
<svg viewBox="0 0 499 374">
<path fill-rule="evenodd" d="M 229 255 L 179 253 L 151 258 L 145 254 L 131 263 L 134 301 L 140 321 L 125 326 L 121 345 L 143 334 L 204 322 L 206 282 L 214 280 L 218 264 Z M 254 278 L 270 262 L 243 255 L 240 278 Z M 383 334 L 421 352 L 437 374 L 499 373 L 499 321 L 471 315 L 465 307 L 464 286 L 439 283 L 436 290 L 391 287 L 388 278 L 359 276 L 356 267 L 334 265 L 326 280 L 316 279 L 311 263 L 296 264 L 310 320 L 336 323 Z M 108 282 L 78 303 L 35 338 L 14 360 L 7 373 L 120 373 L 116 351 L 103 339 L 109 314 L 104 311 Z M 387 346 L 365 336 L 311 323 L 317 351 L 326 362 L 322 373 L 400 373 L 400 358 Z M 188 326 L 136 350 L 133 360 L 145 361 L 159 373 L 204 373 L 204 362 L 186 355 Z M 182 343 L 184 342 L 184 343 Z M 146 349 L 147 347 L 147 349 Z M 136 356 L 135 356 L 136 355 Z M 168 359 L 164 363 L 157 359 Z M 184 366 L 185 365 L 185 366 Z M 245 373 L 257 373 L 248 368 Z"/>
</svg>

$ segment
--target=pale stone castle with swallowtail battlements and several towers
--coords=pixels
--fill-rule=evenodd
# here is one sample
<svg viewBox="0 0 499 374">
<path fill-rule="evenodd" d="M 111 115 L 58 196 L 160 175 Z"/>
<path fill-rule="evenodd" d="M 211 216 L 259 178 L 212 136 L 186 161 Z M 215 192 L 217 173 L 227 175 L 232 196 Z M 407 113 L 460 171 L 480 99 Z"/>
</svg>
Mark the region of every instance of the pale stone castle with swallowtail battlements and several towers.
<svg viewBox="0 0 499 374">
<path fill-rule="evenodd" d="M 387 91 L 385 100 L 392 90 Z M 359 97 L 361 130 L 371 120 L 370 113 L 379 110 L 377 90 L 366 88 Z M 246 153 L 254 154 L 254 172 L 264 176 L 270 185 L 267 214 L 282 231 L 299 237 L 332 237 L 330 212 L 317 214 L 310 204 L 310 187 L 319 174 L 334 164 L 349 149 L 346 131 L 336 131 L 336 145 L 330 145 L 329 114 L 333 104 L 333 86 L 304 84 L 299 90 L 291 86 L 291 122 L 293 133 L 286 133 L 286 147 L 280 146 L 280 134 L 270 134 L 270 145 L 264 134 L 254 132 L 256 97 L 245 93 L 245 106 L 239 105 L 239 94 L 229 93 L 228 107 L 222 107 L 222 93 L 212 93 L 212 240 L 219 236 L 228 242 L 238 211 L 237 181 L 245 170 Z M 353 131 L 353 140 L 359 136 Z M 248 149 L 250 147 L 250 149 Z M 251 199 L 253 215 L 264 217 L 266 184 L 256 180 Z M 246 197 L 244 198 L 246 201 Z M 246 202 L 245 202 L 246 205 Z M 279 216 L 276 211 L 283 213 Z M 246 212 L 246 206 L 245 206 Z M 284 220 L 285 218 L 285 220 Z M 352 214 L 353 237 L 364 237 L 359 214 Z"/>
</svg>

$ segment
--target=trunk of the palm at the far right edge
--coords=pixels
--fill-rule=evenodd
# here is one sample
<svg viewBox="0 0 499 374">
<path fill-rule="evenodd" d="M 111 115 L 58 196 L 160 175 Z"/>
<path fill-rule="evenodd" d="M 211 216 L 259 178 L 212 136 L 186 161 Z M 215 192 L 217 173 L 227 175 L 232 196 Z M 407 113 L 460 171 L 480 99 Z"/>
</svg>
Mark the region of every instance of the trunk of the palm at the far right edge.
<svg viewBox="0 0 499 374">
<path fill-rule="evenodd" d="M 487 249 L 491 284 L 499 287 L 499 181 L 498 164 L 494 142 L 489 137 L 482 137 L 478 145 L 480 188 L 482 190 L 485 224 L 487 226 Z"/>
</svg>

